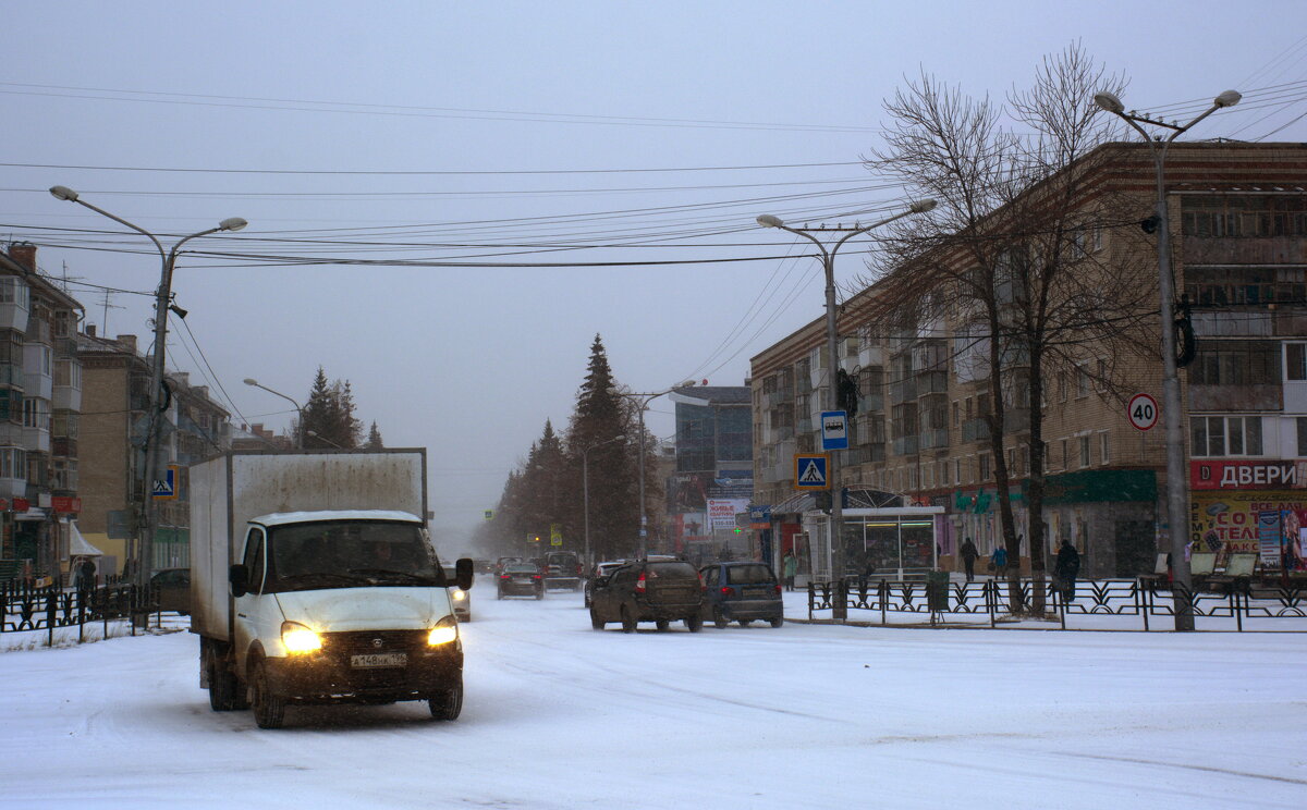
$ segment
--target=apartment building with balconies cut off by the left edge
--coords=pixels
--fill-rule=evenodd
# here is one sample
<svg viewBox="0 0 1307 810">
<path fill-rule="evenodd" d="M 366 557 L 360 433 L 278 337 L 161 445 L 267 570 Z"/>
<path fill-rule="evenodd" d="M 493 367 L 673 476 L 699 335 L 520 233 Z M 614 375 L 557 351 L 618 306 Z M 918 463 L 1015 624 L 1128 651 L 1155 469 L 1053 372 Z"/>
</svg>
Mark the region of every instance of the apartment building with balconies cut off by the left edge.
<svg viewBox="0 0 1307 810">
<path fill-rule="evenodd" d="M 67 571 L 80 511 L 81 304 L 37 268 L 37 247 L 0 253 L 0 579 Z"/>
</svg>

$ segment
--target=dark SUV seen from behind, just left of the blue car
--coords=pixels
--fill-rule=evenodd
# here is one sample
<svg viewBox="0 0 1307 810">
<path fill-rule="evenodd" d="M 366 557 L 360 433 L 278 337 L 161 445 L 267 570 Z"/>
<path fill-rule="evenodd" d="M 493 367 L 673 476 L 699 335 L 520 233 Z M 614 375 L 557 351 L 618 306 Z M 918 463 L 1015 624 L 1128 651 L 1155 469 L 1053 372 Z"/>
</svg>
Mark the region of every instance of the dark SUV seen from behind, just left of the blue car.
<svg viewBox="0 0 1307 810">
<path fill-rule="evenodd" d="M 635 632 L 639 622 L 667 630 L 672 622 L 684 621 L 690 632 L 699 632 L 702 604 L 703 583 L 694 566 L 638 560 L 595 579 L 589 623 L 603 630 L 608 622 L 621 622 L 622 632 Z"/>
</svg>

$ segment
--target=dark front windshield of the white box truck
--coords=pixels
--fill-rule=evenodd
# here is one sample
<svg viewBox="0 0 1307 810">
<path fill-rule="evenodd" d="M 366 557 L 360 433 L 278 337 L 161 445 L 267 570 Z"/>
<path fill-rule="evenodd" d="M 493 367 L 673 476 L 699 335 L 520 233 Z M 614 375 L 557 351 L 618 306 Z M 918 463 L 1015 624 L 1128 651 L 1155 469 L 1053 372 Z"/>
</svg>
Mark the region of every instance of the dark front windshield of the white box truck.
<svg viewBox="0 0 1307 810">
<path fill-rule="evenodd" d="M 421 526 L 332 520 L 269 526 L 267 591 L 444 585 Z"/>
</svg>

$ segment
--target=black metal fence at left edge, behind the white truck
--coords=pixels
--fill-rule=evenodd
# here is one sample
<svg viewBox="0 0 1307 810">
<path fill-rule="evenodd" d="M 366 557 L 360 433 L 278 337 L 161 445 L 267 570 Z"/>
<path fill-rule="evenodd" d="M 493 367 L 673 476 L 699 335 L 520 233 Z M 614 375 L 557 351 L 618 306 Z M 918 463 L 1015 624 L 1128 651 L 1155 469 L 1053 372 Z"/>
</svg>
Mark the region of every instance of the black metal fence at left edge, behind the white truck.
<svg viewBox="0 0 1307 810">
<path fill-rule="evenodd" d="M 88 624 L 103 627 L 108 638 L 110 623 L 127 622 L 131 634 L 146 627 L 150 615 L 159 618 L 158 593 L 131 583 L 111 583 L 93 589 L 73 591 L 51 585 L 31 588 L 20 583 L 0 583 L 0 634 L 44 632 L 46 643 L 55 643 L 55 631 L 77 628 L 77 643 L 85 639 Z"/>
</svg>

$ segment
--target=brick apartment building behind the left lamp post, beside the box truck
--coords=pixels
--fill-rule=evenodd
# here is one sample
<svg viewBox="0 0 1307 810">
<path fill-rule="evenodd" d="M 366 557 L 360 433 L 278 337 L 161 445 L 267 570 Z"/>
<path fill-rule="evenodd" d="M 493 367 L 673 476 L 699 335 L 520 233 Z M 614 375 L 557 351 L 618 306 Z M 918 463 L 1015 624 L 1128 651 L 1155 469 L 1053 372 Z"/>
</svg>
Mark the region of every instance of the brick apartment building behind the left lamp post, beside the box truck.
<svg viewBox="0 0 1307 810">
<path fill-rule="evenodd" d="M 139 541 L 137 513 L 145 469 L 145 426 L 149 409 L 150 359 L 141 354 L 135 334 L 114 338 L 78 336 L 84 374 L 82 419 L 82 536 L 105 551 L 123 572 Z M 230 414 L 190 375 L 167 375 L 170 392 L 165 412 L 163 469 L 171 470 L 175 496 L 156 502 L 153 568 L 190 564 L 188 468 L 230 447 Z"/>
</svg>

